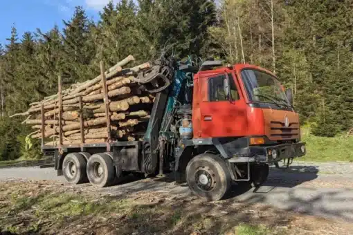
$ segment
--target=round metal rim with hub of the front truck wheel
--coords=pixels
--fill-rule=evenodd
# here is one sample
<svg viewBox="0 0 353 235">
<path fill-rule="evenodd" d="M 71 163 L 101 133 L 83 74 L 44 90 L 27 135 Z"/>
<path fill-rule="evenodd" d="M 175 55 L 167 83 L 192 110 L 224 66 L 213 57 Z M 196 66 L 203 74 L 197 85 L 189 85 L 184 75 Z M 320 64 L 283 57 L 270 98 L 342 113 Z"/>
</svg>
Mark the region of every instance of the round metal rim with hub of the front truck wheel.
<svg viewBox="0 0 353 235">
<path fill-rule="evenodd" d="M 202 191 L 212 191 L 217 183 L 215 173 L 208 167 L 199 167 L 194 173 L 194 180 Z"/>
</svg>

